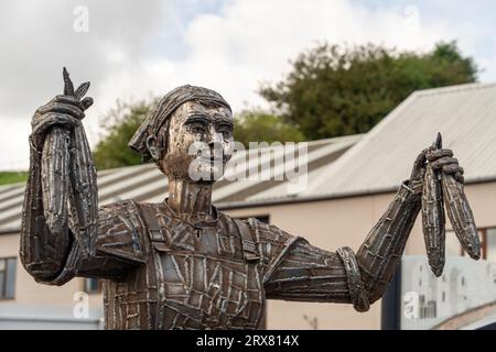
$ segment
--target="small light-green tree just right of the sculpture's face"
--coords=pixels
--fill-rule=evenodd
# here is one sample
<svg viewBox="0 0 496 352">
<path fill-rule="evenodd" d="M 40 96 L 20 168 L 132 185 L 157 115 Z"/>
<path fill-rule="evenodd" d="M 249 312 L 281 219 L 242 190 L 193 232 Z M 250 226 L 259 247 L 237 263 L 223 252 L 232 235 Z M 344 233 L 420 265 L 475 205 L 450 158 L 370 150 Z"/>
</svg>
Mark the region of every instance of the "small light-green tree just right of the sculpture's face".
<svg viewBox="0 0 496 352">
<path fill-rule="evenodd" d="M 246 109 L 235 118 L 235 140 L 249 147 L 249 142 L 300 142 L 303 133 L 281 117 L 261 109 Z"/>
</svg>

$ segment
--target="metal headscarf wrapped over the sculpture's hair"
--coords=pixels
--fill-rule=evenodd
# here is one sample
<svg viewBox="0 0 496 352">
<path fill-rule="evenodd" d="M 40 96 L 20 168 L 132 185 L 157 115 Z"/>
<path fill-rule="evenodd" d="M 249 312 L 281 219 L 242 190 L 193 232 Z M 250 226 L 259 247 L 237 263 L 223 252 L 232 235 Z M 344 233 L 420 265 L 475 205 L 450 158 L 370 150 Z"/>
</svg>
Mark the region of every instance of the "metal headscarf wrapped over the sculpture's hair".
<svg viewBox="0 0 496 352">
<path fill-rule="evenodd" d="M 192 100 L 197 100 L 203 103 L 219 105 L 231 110 L 227 101 L 218 92 L 212 89 L 190 85 L 177 87 L 168 92 L 159 101 L 157 108 L 148 116 L 143 123 L 141 123 L 128 145 L 140 153 L 143 158 L 149 158 L 150 154 L 147 147 L 147 139 L 150 135 L 157 136 L 160 129 L 175 109 L 184 102 Z"/>
</svg>

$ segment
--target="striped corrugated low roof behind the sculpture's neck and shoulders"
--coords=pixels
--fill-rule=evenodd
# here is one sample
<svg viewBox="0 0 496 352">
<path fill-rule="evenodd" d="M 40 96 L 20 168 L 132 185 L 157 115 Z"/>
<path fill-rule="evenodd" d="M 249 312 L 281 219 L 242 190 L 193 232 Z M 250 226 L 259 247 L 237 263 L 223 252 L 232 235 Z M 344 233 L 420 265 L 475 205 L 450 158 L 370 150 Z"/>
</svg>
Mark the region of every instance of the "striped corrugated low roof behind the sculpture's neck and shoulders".
<svg viewBox="0 0 496 352">
<path fill-rule="evenodd" d="M 319 169 L 325 168 L 328 164 L 338 158 L 345 151 L 363 138 L 362 134 L 327 139 L 308 143 L 309 180 L 311 175 Z M 260 153 L 255 158 L 255 167 L 273 165 L 277 154 Z M 284 157 L 291 152 L 287 151 Z M 248 156 L 248 152 L 239 152 L 233 156 L 230 165 L 241 161 L 254 161 Z M 241 164 L 242 165 L 242 164 Z M 247 164 L 252 166 L 251 164 Z M 280 168 L 272 168 L 276 174 L 281 173 Z M 233 168 L 237 173 L 245 173 L 246 168 Z M 228 170 L 226 170 L 228 173 Z M 227 207 L 229 204 L 260 201 L 274 197 L 288 197 L 288 179 L 283 180 L 265 179 L 238 179 L 228 182 L 219 180 L 214 186 L 213 200 L 217 206 Z M 0 232 L 18 231 L 21 221 L 22 202 L 24 198 L 24 184 L 0 186 Z M 103 170 L 98 173 L 98 196 L 100 205 L 114 202 L 122 199 L 136 199 L 144 202 L 160 202 L 166 197 L 168 180 L 164 175 L 153 164 L 129 166 Z"/>
</svg>

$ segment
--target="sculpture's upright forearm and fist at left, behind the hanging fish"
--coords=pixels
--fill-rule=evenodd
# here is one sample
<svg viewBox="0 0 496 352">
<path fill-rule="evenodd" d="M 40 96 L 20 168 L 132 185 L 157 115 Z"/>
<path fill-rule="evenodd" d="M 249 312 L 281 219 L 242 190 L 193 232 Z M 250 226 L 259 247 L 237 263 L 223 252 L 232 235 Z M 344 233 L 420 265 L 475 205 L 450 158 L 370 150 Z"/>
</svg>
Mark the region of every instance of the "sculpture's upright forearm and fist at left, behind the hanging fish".
<svg viewBox="0 0 496 352">
<path fill-rule="evenodd" d="M 32 119 L 32 133 L 29 138 L 30 168 L 22 211 L 20 256 L 25 270 L 36 280 L 51 280 L 62 271 L 74 242 L 67 224 L 63 226 L 57 233 L 53 233 L 47 226 L 42 189 L 43 146 L 47 136 L 53 138 L 50 132 L 54 128 L 71 131 L 82 124 L 84 110 L 91 105 L 89 99 L 84 101 L 71 96 L 56 96 L 39 108 Z M 60 142 L 68 141 L 60 140 Z M 63 145 L 53 145 L 55 153 L 63 153 Z M 54 190 L 67 186 L 53 180 L 52 183 L 51 187 Z M 67 199 L 61 199 L 60 202 L 67 204 Z"/>
</svg>

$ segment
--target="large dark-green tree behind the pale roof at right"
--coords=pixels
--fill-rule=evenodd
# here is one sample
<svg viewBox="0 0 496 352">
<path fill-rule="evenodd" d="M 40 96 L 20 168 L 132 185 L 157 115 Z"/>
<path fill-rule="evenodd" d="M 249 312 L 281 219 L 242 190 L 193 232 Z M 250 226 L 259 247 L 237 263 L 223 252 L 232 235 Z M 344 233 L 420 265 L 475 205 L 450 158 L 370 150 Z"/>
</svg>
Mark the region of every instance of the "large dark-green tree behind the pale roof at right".
<svg viewBox="0 0 496 352">
<path fill-rule="evenodd" d="M 414 90 L 473 82 L 476 74 L 455 42 L 425 54 L 321 44 L 259 92 L 284 121 L 315 140 L 367 132 Z"/>
</svg>

